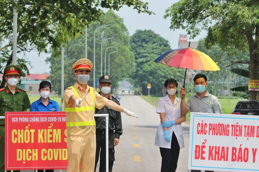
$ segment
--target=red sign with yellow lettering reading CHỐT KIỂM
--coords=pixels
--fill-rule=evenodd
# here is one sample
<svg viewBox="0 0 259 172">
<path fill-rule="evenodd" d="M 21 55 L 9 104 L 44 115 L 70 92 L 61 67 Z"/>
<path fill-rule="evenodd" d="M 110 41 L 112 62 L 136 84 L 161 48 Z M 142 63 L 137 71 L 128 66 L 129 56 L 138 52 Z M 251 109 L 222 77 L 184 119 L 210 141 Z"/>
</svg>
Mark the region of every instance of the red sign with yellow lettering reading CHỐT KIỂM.
<svg viewBox="0 0 259 172">
<path fill-rule="evenodd" d="M 66 169 L 65 112 L 5 112 L 5 170 Z"/>
</svg>

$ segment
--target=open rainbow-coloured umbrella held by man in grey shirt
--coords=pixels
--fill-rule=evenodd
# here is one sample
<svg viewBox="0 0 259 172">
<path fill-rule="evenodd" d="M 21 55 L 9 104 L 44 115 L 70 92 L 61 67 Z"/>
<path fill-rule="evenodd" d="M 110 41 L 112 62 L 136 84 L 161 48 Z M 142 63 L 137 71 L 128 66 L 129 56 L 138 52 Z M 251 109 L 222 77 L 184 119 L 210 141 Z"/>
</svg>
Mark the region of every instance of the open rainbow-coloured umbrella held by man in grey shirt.
<svg viewBox="0 0 259 172">
<path fill-rule="evenodd" d="M 184 85 L 187 69 L 201 70 L 201 71 L 219 71 L 217 64 L 205 53 L 190 48 L 181 48 L 169 50 L 159 56 L 154 62 L 173 66 L 178 68 L 185 68 Z"/>
</svg>

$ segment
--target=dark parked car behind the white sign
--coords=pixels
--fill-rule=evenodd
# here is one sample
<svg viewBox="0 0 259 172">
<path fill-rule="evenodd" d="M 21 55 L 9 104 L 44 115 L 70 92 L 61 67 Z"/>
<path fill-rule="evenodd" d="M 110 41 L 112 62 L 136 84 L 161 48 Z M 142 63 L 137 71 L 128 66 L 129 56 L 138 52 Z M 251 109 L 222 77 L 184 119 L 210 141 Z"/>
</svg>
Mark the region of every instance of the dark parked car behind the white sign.
<svg viewBox="0 0 259 172">
<path fill-rule="evenodd" d="M 231 114 L 259 115 L 259 101 L 257 100 L 238 101 Z"/>
</svg>

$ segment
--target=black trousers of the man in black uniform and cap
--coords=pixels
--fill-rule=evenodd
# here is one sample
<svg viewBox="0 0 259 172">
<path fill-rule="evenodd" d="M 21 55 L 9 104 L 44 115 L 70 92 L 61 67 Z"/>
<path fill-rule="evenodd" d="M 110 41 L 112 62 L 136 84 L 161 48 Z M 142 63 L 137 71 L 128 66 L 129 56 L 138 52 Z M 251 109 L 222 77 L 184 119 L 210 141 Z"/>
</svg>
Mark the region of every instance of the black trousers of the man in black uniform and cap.
<svg viewBox="0 0 259 172">
<path fill-rule="evenodd" d="M 105 134 L 98 134 L 96 133 L 96 153 L 95 153 L 95 166 L 94 166 L 94 172 L 96 172 L 96 166 L 98 164 L 99 160 L 99 154 L 100 154 L 100 168 L 99 172 L 105 172 L 106 170 L 106 147 L 105 147 Z M 113 147 L 113 148 L 110 148 Z M 114 150 L 114 134 L 109 133 L 109 172 L 112 172 L 113 170 L 113 161 L 115 161 L 114 156 L 115 150 Z"/>
</svg>

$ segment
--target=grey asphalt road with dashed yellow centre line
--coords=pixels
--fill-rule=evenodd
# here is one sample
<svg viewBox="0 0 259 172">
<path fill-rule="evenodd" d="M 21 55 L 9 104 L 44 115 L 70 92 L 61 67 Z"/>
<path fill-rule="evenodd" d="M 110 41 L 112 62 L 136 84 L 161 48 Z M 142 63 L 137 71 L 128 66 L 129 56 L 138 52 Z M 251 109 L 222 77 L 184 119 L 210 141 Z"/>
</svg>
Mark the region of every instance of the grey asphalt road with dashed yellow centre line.
<svg viewBox="0 0 259 172">
<path fill-rule="evenodd" d="M 155 134 L 160 122 L 156 107 L 137 95 L 125 94 L 121 97 L 121 106 L 134 112 L 140 118 L 122 114 L 123 134 L 115 146 L 113 172 L 160 172 L 161 155 L 155 144 Z M 182 124 L 185 148 L 180 149 L 177 172 L 187 172 L 189 127 Z M 99 167 L 99 165 L 98 165 Z M 99 171 L 97 167 L 96 171 Z M 66 170 L 62 170 L 65 172 Z M 33 172 L 21 170 L 21 172 Z M 54 170 L 59 172 L 59 170 Z M 202 171 L 204 172 L 204 171 Z M 215 171 L 216 172 L 216 171 Z"/>
</svg>

